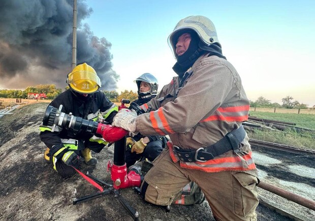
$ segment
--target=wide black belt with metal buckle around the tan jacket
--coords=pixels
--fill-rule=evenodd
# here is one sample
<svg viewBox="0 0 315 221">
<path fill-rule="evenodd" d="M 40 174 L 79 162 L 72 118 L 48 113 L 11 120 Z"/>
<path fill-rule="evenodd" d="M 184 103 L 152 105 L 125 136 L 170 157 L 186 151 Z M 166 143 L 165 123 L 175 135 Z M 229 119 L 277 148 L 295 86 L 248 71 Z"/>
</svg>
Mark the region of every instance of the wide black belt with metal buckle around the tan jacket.
<svg viewBox="0 0 315 221">
<path fill-rule="evenodd" d="M 245 129 L 241 125 L 236 130 L 227 133 L 223 139 L 219 140 L 215 144 L 209 147 L 199 148 L 198 150 L 183 149 L 177 146 L 173 146 L 173 150 L 178 155 L 180 160 L 185 162 L 206 162 L 214 157 L 224 154 L 230 150 L 238 152 L 240 143 L 245 138 Z"/>
</svg>

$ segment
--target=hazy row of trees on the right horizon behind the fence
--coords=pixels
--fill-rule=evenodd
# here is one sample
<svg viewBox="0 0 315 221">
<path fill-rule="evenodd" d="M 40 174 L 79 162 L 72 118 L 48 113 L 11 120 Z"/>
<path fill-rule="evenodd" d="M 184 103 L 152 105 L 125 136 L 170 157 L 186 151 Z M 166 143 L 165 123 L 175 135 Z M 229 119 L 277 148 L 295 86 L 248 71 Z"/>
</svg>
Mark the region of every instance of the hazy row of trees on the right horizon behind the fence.
<svg viewBox="0 0 315 221">
<path fill-rule="evenodd" d="M 308 109 L 308 105 L 294 100 L 292 96 L 287 96 L 281 99 L 282 104 L 271 103 L 270 100 L 259 97 L 256 101 L 249 101 L 251 107 L 275 107 L 275 108 L 288 108 L 288 109 Z"/>
</svg>

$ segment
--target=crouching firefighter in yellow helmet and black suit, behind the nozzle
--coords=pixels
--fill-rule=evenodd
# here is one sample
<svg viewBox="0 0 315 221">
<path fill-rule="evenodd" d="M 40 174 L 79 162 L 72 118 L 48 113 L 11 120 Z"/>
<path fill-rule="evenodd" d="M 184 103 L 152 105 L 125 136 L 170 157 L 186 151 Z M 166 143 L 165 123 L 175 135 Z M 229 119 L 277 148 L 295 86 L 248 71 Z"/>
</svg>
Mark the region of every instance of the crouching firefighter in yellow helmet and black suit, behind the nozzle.
<svg viewBox="0 0 315 221">
<path fill-rule="evenodd" d="M 91 66 L 86 63 L 76 66 L 68 74 L 66 82 L 70 89 L 58 95 L 49 105 L 59 108 L 62 104 L 61 112 L 66 114 L 72 113 L 73 116 L 94 121 L 102 117 L 112 123 L 118 107 L 99 91 L 101 79 Z M 41 141 L 47 146 L 44 158 L 62 177 L 75 173 L 71 166 L 77 167 L 80 156 L 85 163 L 96 165 L 98 160 L 92 157 L 91 150 L 99 153 L 107 144 L 103 137 L 83 131 L 75 133 L 69 128 L 57 127 L 51 132 L 51 127 L 41 125 L 40 131 Z"/>
</svg>

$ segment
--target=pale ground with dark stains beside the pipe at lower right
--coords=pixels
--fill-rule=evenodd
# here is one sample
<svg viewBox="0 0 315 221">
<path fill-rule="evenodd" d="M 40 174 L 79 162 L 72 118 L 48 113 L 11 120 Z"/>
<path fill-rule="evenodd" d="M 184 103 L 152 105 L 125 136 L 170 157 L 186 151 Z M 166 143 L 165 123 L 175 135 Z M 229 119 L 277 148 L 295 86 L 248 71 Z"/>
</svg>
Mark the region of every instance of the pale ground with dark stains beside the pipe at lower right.
<svg viewBox="0 0 315 221">
<path fill-rule="evenodd" d="M 315 201 L 315 156 L 253 147 L 253 158 L 262 181 Z M 260 196 L 281 205 L 302 220 L 315 220 L 315 211 L 258 188 Z"/>
</svg>

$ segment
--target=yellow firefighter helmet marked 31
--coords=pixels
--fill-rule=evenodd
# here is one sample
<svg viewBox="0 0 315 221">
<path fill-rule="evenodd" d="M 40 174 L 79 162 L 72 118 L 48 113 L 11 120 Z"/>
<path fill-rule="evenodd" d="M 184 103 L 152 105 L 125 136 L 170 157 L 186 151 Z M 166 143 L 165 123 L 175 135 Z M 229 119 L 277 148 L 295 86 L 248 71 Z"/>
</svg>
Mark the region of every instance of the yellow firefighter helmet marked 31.
<svg viewBox="0 0 315 221">
<path fill-rule="evenodd" d="M 86 63 L 78 65 L 68 74 L 67 84 L 71 89 L 81 94 L 92 94 L 102 87 L 100 77 Z"/>
</svg>

